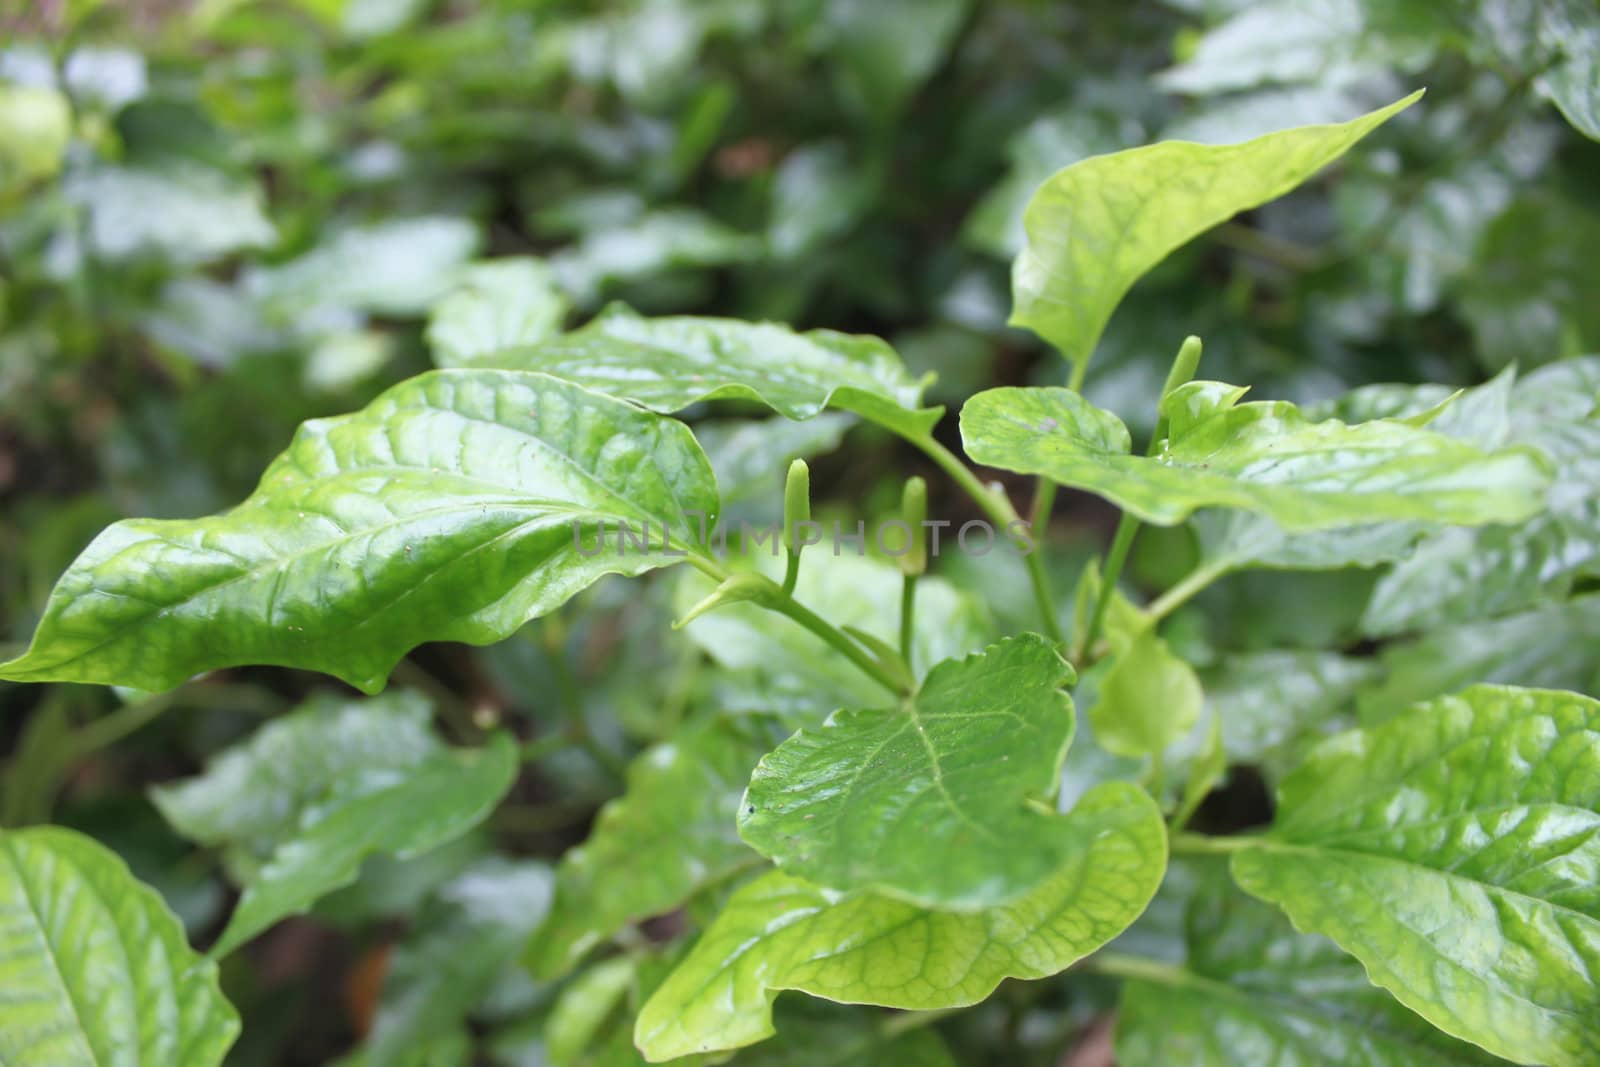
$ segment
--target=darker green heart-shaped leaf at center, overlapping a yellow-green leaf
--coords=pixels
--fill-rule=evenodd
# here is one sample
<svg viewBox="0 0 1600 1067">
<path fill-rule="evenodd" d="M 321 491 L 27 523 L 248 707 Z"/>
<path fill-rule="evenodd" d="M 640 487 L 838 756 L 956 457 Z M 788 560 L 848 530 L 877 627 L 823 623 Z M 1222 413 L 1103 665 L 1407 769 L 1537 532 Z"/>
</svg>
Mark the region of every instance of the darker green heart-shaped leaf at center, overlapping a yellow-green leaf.
<svg viewBox="0 0 1600 1067">
<path fill-rule="evenodd" d="M 901 707 L 834 712 L 762 760 L 739 833 L 787 873 L 946 910 L 994 907 L 1082 837 L 1038 811 L 1072 742 L 1072 669 L 1035 633 L 931 672 Z"/>
</svg>

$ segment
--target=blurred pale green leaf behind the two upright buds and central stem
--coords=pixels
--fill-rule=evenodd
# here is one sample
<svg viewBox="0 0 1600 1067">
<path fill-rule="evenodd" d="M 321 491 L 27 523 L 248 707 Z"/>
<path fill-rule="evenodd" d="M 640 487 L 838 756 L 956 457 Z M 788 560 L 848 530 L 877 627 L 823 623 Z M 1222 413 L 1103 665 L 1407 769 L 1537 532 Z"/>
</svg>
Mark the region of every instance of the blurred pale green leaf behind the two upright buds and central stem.
<svg viewBox="0 0 1600 1067">
<path fill-rule="evenodd" d="M 848 528 L 843 533 L 854 536 Z M 832 530 L 824 530 L 822 536 L 824 544 L 808 549 L 803 557 L 795 598 L 834 625 L 898 641 L 904 584 L 899 566 L 856 555 L 851 545 L 832 555 L 827 542 Z M 776 552 L 766 550 L 774 544 L 768 539 L 765 547 L 750 549 L 750 563 L 776 581 L 782 577 L 784 563 Z M 682 616 L 712 589 L 702 574 L 685 571 L 674 590 L 674 609 Z M 918 677 L 995 638 L 982 601 L 941 577 L 925 576 L 917 582 L 917 614 L 926 621 L 912 638 L 910 665 Z M 883 699 L 875 681 L 845 662 L 822 638 L 776 611 L 728 605 L 694 619 L 683 632 L 723 667 L 758 672 L 778 688 L 803 694 L 805 702 L 822 713 L 838 707 L 872 707 Z"/>
</svg>

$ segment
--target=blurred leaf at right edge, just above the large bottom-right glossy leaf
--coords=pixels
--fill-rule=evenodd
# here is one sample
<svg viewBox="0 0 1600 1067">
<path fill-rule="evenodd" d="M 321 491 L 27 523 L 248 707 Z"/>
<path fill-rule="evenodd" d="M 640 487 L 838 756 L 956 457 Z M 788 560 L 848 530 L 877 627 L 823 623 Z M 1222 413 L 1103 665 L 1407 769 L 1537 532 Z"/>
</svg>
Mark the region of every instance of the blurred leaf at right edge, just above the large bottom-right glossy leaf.
<svg viewBox="0 0 1600 1067">
<path fill-rule="evenodd" d="M 1382 651 L 1386 677 L 1360 694 L 1362 721 L 1381 721 L 1416 701 L 1472 685 L 1546 686 L 1600 693 L 1600 593 L 1483 622 L 1429 630 Z"/>
</svg>

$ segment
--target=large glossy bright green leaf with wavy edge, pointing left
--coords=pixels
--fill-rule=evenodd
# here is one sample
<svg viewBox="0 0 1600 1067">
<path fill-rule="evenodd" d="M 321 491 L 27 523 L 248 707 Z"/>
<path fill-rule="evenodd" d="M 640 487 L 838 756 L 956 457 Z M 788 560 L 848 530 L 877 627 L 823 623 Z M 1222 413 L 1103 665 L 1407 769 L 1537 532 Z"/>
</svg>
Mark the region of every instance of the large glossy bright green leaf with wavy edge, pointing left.
<svg viewBox="0 0 1600 1067">
<path fill-rule="evenodd" d="M 371 693 L 414 645 L 498 641 L 602 574 L 682 561 L 662 525 L 688 547 L 715 510 L 680 422 L 544 374 L 434 371 L 302 426 L 230 512 L 110 526 L 0 677 L 166 689 L 280 664 Z M 619 522 L 651 549 L 595 552 Z"/>
</svg>

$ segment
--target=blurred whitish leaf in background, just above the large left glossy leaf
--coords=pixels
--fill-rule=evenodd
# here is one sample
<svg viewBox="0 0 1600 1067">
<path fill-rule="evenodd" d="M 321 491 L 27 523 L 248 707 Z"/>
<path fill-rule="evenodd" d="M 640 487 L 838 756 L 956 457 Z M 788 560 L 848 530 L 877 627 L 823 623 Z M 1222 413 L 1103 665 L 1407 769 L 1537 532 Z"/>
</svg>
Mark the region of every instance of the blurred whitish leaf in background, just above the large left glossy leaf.
<svg viewBox="0 0 1600 1067">
<path fill-rule="evenodd" d="M 477 248 L 477 227 L 464 219 L 389 219 L 339 230 L 298 259 L 248 274 L 245 285 L 285 322 L 326 309 L 421 315 Z"/>
</svg>

